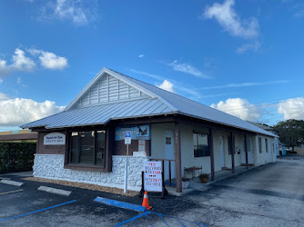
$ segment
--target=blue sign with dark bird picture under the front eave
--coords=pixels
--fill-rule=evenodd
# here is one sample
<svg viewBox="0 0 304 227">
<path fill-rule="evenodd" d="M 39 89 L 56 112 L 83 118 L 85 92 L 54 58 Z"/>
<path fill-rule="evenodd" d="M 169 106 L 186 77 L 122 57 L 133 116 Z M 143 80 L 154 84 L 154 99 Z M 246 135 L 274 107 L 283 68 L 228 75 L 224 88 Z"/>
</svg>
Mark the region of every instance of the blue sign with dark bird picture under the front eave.
<svg viewBox="0 0 304 227">
<path fill-rule="evenodd" d="M 125 140 L 125 133 L 127 131 L 131 132 L 132 140 L 149 140 L 150 139 L 150 125 L 141 124 L 128 127 L 116 127 L 115 129 L 115 140 L 123 141 Z"/>
</svg>

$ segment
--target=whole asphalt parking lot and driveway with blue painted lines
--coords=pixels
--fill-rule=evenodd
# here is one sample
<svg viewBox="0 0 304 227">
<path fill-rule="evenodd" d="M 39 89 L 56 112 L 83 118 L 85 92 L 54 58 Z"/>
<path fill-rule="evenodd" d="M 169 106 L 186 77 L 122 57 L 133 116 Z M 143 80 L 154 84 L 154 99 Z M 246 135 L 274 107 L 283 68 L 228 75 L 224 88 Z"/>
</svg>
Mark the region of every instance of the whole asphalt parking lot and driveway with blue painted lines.
<svg viewBox="0 0 304 227">
<path fill-rule="evenodd" d="M 94 202 L 97 196 L 141 204 L 142 198 L 95 192 L 21 176 L 25 185 L 0 183 L 0 226 L 304 226 L 304 161 L 280 160 L 183 197 L 152 198 L 152 210 L 135 212 Z M 70 196 L 37 191 L 41 185 Z"/>
</svg>

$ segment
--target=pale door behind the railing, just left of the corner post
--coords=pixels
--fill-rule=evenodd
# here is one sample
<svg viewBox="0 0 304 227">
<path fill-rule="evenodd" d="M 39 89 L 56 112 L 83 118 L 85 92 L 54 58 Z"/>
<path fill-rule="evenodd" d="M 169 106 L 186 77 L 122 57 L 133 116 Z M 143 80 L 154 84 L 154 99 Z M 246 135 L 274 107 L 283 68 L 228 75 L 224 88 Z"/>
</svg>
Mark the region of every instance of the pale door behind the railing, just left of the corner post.
<svg viewBox="0 0 304 227">
<path fill-rule="evenodd" d="M 174 154 L 174 132 L 165 131 L 165 159 L 175 160 Z M 171 179 L 175 178 L 175 162 L 171 162 Z M 169 162 L 165 161 L 165 181 L 169 179 Z"/>
</svg>

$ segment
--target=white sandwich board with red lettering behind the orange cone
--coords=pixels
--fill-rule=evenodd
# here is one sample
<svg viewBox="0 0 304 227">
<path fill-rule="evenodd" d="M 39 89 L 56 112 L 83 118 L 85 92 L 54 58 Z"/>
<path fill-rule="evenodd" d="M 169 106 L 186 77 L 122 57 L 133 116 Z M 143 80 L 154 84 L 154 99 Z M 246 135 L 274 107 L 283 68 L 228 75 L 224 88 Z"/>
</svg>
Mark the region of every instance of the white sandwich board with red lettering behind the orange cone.
<svg viewBox="0 0 304 227">
<path fill-rule="evenodd" d="M 145 162 L 144 190 L 147 192 L 162 192 L 161 162 Z"/>
</svg>

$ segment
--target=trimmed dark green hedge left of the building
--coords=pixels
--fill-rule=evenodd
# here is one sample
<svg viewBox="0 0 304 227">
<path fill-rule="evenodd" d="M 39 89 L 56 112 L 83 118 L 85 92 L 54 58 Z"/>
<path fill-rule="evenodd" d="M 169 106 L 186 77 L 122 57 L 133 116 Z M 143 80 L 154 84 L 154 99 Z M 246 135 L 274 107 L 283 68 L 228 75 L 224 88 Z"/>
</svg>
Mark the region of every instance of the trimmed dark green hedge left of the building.
<svg viewBox="0 0 304 227">
<path fill-rule="evenodd" d="M 36 143 L 0 143 L 0 173 L 31 171 Z"/>
</svg>

